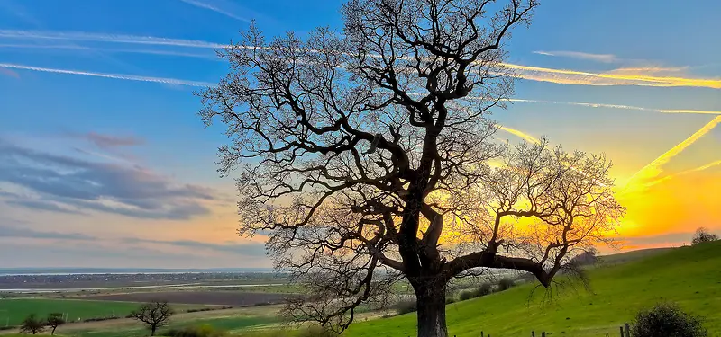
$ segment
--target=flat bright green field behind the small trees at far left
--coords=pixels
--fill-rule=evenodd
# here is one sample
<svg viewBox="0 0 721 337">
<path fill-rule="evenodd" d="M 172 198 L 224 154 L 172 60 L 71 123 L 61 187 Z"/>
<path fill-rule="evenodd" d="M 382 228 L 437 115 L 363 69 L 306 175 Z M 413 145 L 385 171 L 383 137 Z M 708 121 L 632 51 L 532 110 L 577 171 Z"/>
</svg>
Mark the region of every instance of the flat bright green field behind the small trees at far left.
<svg viewBox="0 0 721 337">
<path fill-rule="evenodd" d="M 139 303 L 108 302 L 96 300 L 16 298 L 0 299 L 0 325 L 17 325 L 27 315 L 46 316 L 50 313 L 68 314 L 68 320 L 78 321 L 87 318 L 121 316 L 130 314 Z M 176 306 L 178 310 L 202 306 Z"/>
</svg>

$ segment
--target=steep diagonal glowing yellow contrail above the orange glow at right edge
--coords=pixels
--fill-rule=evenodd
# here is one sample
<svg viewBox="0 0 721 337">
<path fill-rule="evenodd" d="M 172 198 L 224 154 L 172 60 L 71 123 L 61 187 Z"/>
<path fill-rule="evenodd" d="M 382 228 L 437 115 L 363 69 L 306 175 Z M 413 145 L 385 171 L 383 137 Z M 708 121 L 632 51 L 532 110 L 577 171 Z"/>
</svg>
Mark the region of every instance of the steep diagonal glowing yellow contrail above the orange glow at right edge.
<svg viewBox="0 0 721 337">
<path fill-rule="evenodd" d="M 704 137 L 709 131 L 716 128 L 716 125 L 718 125 L 718 123 L 721 123 L 721 116 L 716 116 L 716 118 L 709 121 L 701 129 L 698 129 L 698 131 L 694 132 L 693 135 L 684 139 L 677 146 L 673 146 L 670 150 L 660 155 L 658 158 L 653 160 L 653 162 L 644 166 L 637 173 L 634 173 L 634 175 L 631 176 L 628 182 L 626 182 L 624 192 L 643 190 L 643 188 L 646 187 L 646 183 L 653 180 L 653 178 L 657 177 L 662 173 L 661 166 L 663 164 L 668 163 L 671 158 L 679 155 L 684 149 L 686 149 L 686 147 L 689 147 L 691 144 L 698 141 L 698 139 Z"/>
</svg>

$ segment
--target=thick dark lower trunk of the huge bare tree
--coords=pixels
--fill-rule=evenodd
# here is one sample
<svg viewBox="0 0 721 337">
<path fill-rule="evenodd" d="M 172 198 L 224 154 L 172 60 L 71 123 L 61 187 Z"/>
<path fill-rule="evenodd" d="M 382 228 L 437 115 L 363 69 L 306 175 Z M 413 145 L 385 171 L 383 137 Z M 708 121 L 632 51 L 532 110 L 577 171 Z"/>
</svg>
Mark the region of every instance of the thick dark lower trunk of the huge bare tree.
<svg viewBox="0 0 721 337">
<path fill-rule="evenodd" d="M 421 287 L 415 291 L 418 337 L 448 337 L 445 325 L 445 288 Z"/>
</svg>

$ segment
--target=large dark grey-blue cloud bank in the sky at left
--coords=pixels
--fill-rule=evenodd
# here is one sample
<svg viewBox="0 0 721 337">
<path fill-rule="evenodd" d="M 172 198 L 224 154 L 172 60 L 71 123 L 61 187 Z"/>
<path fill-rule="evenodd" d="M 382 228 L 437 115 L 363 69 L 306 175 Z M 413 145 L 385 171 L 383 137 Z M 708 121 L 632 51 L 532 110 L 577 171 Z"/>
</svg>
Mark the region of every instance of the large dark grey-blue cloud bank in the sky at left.
<svg viewBox="0 0 721 337">
<path fill-rule="evenodd" d="M 137 165 L 90 162 L 51 155 L 0 139 L 0 182 L 40 195 L 5 201 L 24 208 L 95 210 L 127 217 L 183 220 L 209 212 L 211 189 L 178 184 Z"/>
</svg>

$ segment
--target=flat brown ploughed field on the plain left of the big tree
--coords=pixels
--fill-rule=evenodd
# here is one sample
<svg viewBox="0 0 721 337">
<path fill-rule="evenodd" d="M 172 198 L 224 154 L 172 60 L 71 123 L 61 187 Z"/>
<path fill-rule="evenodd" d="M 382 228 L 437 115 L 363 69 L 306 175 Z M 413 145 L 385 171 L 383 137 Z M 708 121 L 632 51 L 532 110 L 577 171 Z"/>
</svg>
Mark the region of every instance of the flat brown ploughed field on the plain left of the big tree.
<svg viewBox="0 0 721 337">
<path fill-rule="evenodd" d="M 165 291 L 134 292 L 127 294 L 91 295 L 73 297 L 78 300 L 121 302 L 168 301 L 177 304 L 215 306 L 258 306 L 280 303 L 284 295 L 276 293 L 251 293 L 239 291 Z"/>
</svg>

